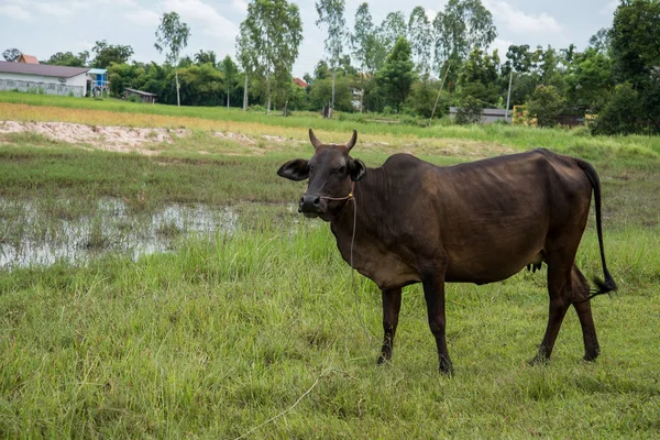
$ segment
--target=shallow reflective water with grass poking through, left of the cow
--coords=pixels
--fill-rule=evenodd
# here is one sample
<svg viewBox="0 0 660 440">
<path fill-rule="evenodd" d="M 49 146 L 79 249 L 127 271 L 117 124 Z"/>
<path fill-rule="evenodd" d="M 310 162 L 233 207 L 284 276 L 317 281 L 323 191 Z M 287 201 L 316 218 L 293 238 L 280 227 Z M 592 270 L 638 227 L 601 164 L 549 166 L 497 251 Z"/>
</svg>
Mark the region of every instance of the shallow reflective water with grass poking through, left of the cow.
<svg viewBox="0 0 660 440">
<path fill-rule="evenodd" d="M 69 201 L 59 204 L 66 207 Z M 123 200 L 105 198 L 94 215 L 76 219 L 53 216 L 48 210 L 52 206 L 44 208 L 35 201 L 0 199 L 0 268 L 51 265 L 61 260 L 84 264 L 107 252 L 138 258 L 172 249 L 180 237 L 232 233 L 238 226 L 238 215 L 230 208 L 206 205 L 173 204 L 153 213 L 133 213 Z"/>
</svg>

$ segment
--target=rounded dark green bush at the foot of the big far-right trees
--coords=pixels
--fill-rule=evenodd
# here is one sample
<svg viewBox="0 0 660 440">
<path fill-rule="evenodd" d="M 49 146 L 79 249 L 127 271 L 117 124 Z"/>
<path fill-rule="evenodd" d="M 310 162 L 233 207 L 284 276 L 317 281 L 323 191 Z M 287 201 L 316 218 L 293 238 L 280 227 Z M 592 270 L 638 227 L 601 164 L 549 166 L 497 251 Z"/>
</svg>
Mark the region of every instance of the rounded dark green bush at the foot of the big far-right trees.
<svg viewBox="0 0 660 440">
<path fill-rule="evenodd" d="M 619 84 L 598 113 L 592 131 L 594 134 L 632 134 L 644 130 L 644 112 L 639 92 L 630 84 Z"/>
</svg>

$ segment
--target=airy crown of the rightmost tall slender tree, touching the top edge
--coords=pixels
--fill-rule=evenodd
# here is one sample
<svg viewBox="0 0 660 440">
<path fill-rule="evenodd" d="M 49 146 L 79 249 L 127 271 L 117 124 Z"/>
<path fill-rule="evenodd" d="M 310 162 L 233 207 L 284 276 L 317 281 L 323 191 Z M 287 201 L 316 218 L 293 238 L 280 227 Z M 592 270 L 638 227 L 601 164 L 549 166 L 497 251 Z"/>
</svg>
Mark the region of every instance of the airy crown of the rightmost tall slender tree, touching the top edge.
<svg viewBox="0 0 660 440">
<path fill-rule="evenodd" d="M 451 63 L 457 68 L 473 47 L 488 48 L 497 36 L 491 12 L 481 0 L 449 0 L 433 20 L 436 73 L 441 76 Z"/>
</svg>

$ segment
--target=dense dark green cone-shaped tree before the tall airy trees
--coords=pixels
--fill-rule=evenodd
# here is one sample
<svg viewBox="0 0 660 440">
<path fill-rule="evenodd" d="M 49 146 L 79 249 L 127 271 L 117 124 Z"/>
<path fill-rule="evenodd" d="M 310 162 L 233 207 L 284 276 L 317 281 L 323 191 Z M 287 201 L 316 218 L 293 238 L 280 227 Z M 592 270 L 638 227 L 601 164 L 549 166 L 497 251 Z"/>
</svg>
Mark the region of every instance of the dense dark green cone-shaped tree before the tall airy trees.
<svg viewBox="0 0 660 440">
<path fill-rule="evenodd" d="M 410 43 L 405 36 L 402 36 L 396 41 L 383 68 L 376 75 L 378 86 L 388 94 L 391 103 L 397 112 L 408 97 L 410 86 L 415 80 L 414 67 Z"/>
</svg>

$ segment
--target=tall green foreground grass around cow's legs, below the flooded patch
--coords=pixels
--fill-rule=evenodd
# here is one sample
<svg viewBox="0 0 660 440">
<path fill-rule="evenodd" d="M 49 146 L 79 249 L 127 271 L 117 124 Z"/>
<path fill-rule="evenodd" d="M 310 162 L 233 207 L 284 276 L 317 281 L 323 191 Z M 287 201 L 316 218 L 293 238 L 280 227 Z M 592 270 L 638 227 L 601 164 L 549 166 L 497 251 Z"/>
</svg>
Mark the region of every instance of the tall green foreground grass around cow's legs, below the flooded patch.
<svg viewBox="0 0 660 440">
<path fill-rule="evenodd" d="M 631 240 L 635 244 L 631 244 Z M 547 318 L 544 273 L 448 290 L 457 376 L 437 372 L 418 287 L 394 365 L 377 366 L 350 272 L 327 228 L 191 240 L 136 264 L 0 272 L 0 431 L 8 437 L 234 438 L 308 397 L 256 438 L 660 435 L 660 243 L 607 234 L 620 296 L 593 304 L 603 355 L 580 362 L 576 317 L 553 361 L 529 367 Z M 580 261 L 600 274 L 595 237 Z M 380 339 L 380 294 L 358 283 Z M 625 317 L 625 319 L 623 319 Z"/>
</svg>

